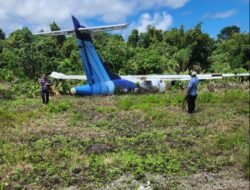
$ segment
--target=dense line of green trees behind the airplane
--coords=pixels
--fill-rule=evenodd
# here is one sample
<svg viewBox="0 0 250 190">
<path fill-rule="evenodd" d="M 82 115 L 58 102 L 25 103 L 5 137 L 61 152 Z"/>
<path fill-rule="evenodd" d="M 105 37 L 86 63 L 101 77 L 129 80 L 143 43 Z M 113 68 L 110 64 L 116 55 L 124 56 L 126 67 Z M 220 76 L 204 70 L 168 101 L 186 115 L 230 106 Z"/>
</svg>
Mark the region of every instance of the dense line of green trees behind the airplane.
<svg viewBox="0 0 250 190">
<path fill-rule="evenodd" d="M 60 30 L 53 22 L 52 31 Z M 250 68 L 249 33 L 237 26 L 221 30 L 217 39 L 202 31 L 202 24 L 162 31 L 149 25 L 146 32 L 121 35 L 97 33 L 94 44 L 103 62 L 118 74 L 179 74 L 198 72 L 247 72 Z M 74 36 L 34 36 L 29 28 L 8 37 L 0 29 L 0 78 L 37 79 L 52 71 L 83 74 Z"/>
</svg>

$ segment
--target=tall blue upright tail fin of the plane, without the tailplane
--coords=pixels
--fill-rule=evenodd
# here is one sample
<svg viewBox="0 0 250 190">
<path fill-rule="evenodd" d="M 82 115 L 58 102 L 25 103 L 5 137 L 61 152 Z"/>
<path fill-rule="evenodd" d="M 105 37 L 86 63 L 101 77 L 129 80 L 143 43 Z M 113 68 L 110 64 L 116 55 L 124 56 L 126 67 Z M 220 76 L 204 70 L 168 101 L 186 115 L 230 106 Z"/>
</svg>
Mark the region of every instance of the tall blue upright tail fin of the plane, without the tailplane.
<svg viewBox="0 0 250 190">
<path fill-rule="evenodd" d="M 84 26 L 81 26 L 74 16 L 72 16 L 72 20 L 88 83 L 95 84 L 118 78 L 119 76 L 111 73 L 103 65 L 102 60 L 93 45 L 90 33 L 83 31 L 80 32 L 78 29 L 84 28 Z"/>
</svg>

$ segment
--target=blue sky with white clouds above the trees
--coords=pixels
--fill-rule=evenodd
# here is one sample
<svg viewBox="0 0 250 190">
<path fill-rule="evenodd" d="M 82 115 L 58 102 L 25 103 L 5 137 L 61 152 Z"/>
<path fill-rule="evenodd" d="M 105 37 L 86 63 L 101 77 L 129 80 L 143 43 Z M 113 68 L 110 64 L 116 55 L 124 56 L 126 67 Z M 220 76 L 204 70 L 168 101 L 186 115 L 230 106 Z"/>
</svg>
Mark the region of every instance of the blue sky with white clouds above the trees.
<svg viewBox="0 0 250 190">
<path fill-rule="evenodd" d="M 211 37 L 230 25 L 249 32 L 248 0 L 0 0 L 0 28 L 6 34 L 22 27 L 47 31 L 53 21 L 69 29 L 71 15 L 87 26 L 127 22 L 128 29 L 118 32 L 123 36 L 134 28 L 143 32 L 149 24 L 169 30 L 199 22 Z"/>
</svg>

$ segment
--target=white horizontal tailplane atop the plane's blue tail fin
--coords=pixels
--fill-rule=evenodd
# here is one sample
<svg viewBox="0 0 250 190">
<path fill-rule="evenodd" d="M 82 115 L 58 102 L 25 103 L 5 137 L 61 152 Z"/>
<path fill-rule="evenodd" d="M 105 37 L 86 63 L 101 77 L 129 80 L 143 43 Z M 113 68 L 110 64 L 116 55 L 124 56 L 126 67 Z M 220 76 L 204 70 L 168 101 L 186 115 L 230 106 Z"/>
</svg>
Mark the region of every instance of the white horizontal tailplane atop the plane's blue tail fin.
<svg viewBox="0 0 250 190">
<path fill-rule="evenodd" d="M 117 25 L 107 25 L 107 26 L 98 26 L 98 27 L 80 27 L 77 29 L 80 33 L 95 33 L 95 32 L 104 32 L 109 30 L 120 30 L 126 28 L 128 24 L 117 24 Z M 63 35 L 70 35 L 75 34 L 75 29 L 67 29 L 67 30 L 58 30 L 58 31 L 51 31 L 51 32 L 39 32 L 34 33 L 34 35 L 50 35 L 50 36 L 63 36 Z"/>
</svg>

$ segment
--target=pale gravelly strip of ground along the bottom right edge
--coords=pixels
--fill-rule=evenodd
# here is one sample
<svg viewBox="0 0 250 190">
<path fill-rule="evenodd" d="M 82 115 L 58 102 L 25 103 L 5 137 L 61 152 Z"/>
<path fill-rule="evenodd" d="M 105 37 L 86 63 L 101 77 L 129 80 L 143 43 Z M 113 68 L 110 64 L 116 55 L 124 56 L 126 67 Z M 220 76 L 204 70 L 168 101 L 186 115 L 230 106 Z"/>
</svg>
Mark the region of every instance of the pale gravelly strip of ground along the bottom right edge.
<svg viewBox="0 0 250 190">
<path fill-rule="evenodd" d="M 143 190 L 247 190 L 249 181 L 239 173 L 203 172 L 190 176 L 162 176 L 159 174 L 146 174 L 143 182 L 136 180 L 133 175 L 123 175 L 100 190 L 115 189 L 143 189 Z"/>
</svg>

